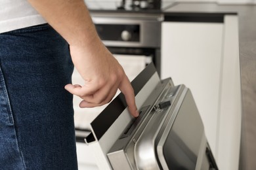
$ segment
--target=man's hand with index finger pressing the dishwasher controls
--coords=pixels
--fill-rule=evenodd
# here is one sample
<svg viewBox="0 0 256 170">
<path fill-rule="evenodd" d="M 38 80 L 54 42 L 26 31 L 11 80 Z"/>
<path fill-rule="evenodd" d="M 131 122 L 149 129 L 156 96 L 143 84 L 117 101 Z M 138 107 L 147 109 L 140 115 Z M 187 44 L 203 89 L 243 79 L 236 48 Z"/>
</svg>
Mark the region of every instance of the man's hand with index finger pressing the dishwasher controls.
<svg viewBox="0 0 256 170">
<path fill-rule="evenodd" d="M 83 99 L 80 107 L 97 107 L 110 102 L 119 88 L 125 95 L 129 112 L 139 116 L 133 88 L 121 65 L 102 42 L 95 41 L 89 50 L 87 48 L 70 46 L 74 65 L 85 84 L 68 84 L 66 90 Z"/>
</svg>

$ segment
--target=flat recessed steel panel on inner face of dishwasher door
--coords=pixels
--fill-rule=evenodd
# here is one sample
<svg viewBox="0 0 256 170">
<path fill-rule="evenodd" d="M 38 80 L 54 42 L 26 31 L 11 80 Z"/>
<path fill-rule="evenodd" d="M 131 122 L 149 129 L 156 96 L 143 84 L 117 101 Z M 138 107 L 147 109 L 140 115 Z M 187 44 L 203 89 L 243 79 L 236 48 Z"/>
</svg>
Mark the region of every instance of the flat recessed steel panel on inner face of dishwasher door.
<svg viewBox="0 0 256 170">
<path fill-rule="evenodd" d="M 203 144 L 203 124 L 190 90 L 180 101 L 175 121 L 168 122 L 157 146 L 163 169 L 196 169 Z"/>
</svg>

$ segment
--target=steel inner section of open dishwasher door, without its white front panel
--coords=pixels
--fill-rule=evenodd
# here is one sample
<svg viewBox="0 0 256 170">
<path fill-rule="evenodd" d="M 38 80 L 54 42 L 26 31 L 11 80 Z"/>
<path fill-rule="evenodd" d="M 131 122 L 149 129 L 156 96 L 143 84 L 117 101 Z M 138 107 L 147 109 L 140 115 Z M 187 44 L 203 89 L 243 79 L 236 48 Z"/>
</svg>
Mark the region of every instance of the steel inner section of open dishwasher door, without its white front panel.
<svg viewBox="0 0 256 170">
<path fill-rule="evenodd" d="M 218 169 L 186 86 L 161 80 L 108 152 L 113 169 Z"/>
</svg>

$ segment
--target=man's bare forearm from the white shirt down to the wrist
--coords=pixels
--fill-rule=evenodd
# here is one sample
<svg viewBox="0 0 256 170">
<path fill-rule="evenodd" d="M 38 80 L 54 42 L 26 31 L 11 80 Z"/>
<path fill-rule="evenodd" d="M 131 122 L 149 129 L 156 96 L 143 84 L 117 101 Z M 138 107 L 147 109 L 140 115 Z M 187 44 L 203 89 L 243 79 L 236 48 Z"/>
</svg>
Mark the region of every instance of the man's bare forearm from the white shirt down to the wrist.
<svg viewBox="0 0 256 170">
<path fill-rule="evenodd" d="M 100 41 L 83 0 L 28 0 L 71 46 L 90 48 Z"/>
</svg>

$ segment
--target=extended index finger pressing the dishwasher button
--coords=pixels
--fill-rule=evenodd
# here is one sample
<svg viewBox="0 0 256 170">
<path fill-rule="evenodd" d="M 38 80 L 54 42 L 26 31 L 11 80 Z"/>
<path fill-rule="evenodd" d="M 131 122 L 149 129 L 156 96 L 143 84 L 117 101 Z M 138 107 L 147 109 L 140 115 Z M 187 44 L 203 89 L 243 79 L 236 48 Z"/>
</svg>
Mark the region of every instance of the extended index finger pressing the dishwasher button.
<svg viewBox="0 0 256 170">
<path fill-rule="evenodd" d="M 135 94 L 133 91 L 133 87 L 131 86 L 131 83 L 126 75 L 120 82 L 119 90 L 123 93 L 123 95 L 125 95 L 125 101 L 128 105 L 128 109 L 131 115 L 133 115 L 134 117 L 139 116 L 139 112 L 135 103 Z"/>
</svg>

